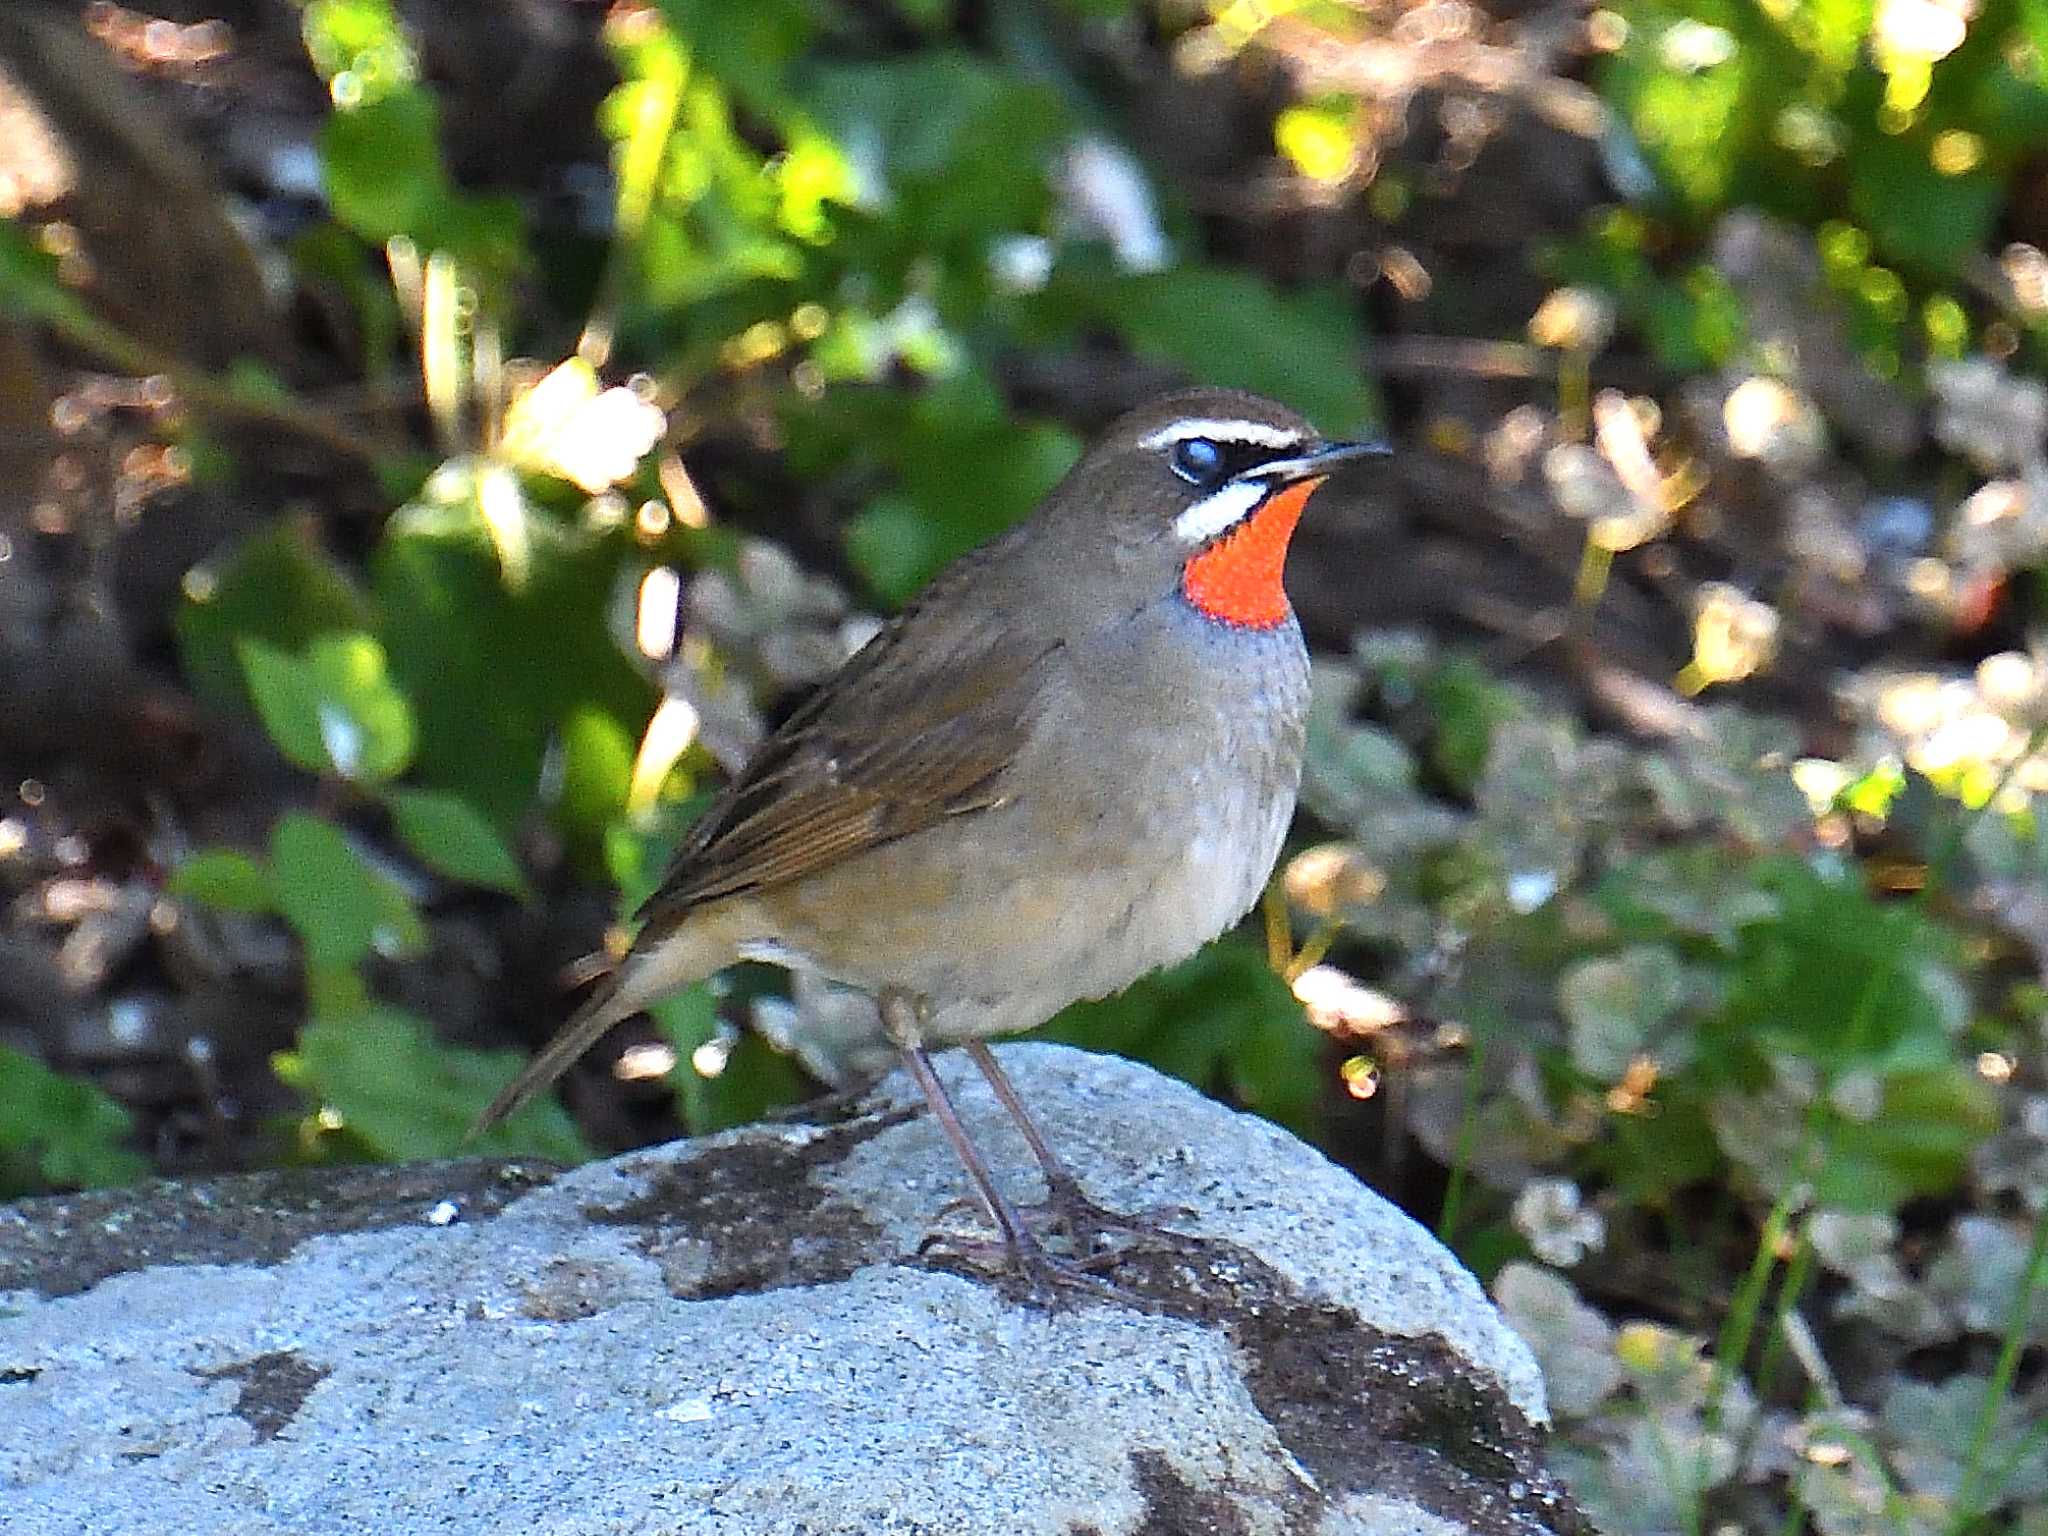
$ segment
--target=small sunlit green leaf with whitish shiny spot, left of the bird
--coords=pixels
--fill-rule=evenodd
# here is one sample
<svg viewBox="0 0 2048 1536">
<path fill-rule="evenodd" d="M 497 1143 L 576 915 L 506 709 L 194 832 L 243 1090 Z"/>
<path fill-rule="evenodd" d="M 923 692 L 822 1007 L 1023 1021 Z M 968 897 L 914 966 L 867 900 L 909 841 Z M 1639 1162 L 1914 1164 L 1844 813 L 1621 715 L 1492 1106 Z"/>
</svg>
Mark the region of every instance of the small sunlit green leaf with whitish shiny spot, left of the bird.
<svg viewBox="0 0 2048 1536">
<path fill-rule="evenodd" d="M 291 762 L 377 784 L 412 760 L 412 707 L 369 635 L 322 635 L 297 657 L 246 639 L 238 653 L 256 713 Z"/>
</svg>

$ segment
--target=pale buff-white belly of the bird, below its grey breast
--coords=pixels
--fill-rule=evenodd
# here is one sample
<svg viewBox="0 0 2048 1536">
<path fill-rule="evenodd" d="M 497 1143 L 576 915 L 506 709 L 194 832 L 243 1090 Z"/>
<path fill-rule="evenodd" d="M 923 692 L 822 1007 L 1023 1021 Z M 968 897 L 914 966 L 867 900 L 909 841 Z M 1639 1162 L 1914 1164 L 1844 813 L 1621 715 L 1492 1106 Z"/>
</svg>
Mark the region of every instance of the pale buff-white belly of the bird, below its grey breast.
<svg viewBox="0 0 2048 1536">
<path fill-rule="evenodd" d="M 1020 760 L 1008 805 L 770 893 L 741 950 L 918 995 L 934 1044 L 1028 1030 L 1120 991 L 1257 901 L 1300 778 L 1305 678 L 1288 670 L 1284 684 L 1200 723 L 1124 729 L 1085 772 L 1055 729 L 1044 764 Z"/>
</svg>

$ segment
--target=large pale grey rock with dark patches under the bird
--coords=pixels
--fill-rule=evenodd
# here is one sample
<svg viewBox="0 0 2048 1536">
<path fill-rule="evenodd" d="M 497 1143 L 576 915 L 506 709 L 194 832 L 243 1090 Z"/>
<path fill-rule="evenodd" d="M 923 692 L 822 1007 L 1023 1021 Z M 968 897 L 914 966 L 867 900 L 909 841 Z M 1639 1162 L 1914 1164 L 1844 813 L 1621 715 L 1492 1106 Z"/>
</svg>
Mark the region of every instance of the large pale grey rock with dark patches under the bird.
<svg viewBox="0 0 2048 1536">
<path fill-rule="evenodd" d="M 1130 1063 L 1004 1061 L 1090 1192 L 1184 1206 L 1145 1307 L 920 1260 L 901 1077 L 573 1171 L 444 1163 L 0 1208 L 16 1536 L 1581 1532 L 1536 1366 L 1415 1223 Z M 1030 1163 L 944 1059 L 1004 1178 Z"/>
</svg>

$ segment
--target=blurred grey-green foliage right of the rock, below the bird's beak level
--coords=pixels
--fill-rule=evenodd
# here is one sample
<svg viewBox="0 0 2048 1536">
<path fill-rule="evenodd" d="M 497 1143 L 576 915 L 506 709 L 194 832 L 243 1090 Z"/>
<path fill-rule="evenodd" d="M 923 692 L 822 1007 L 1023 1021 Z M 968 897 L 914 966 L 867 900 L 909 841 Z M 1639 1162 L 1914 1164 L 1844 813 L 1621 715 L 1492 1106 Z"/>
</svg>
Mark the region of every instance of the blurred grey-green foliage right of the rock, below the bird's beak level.
<svg viewBox="0 0 2048 1536">
<path fill-rule="evenodd" d="M 1432 782 L 1423 764 L 1475 713 L 1481 772 Z M 2034 870 L 2040 803 L 1972 809 L 1898 764 L 1812 795 L 1780 727 L 1708 721 L 1673 745 L 1585 739 L 1413 635 L 1323 666 L 1305 795 L 1348 840 L 1296 856 L 1286 887 L 1341 924 L 1354 965 L 1376 956 L 1393 995 L 1323 979 L 1311 1018 L 1405 1069 L 1409 1126 L 1481 1186 L 1448 1235 L 1495 1270 L 1602 1528 L 1692 1532 L 1714 1511 L 1829 1536 L 1997 1528 L 2040 1499 L 2040 1440 L 2009 1395 L 2048 1300 L 2048 1098 L 2001 1083 L 2038 1061 L 2044 1012 L 1982 965 L 1989 932 L 1952 897 Z M 1890 838 L 1911 879 L 1886 889 L 1884 864 L 1825 846 L 1851 827 Z M 1417 1057 L 1395 997 L 1468 1022 L 1481 1049 Z M 1747 1231 L 1702 1219 L 1731 1192 L 1763 1210 L 1747 1257 L 1722 1247 Z M 2017 1214 L 1968 1214 L 2013 1192 Z M 1933 1264 L 1909 1257 L 1909 1210 L 1950 1212 Z M 1563 1274 L 1614 1282 L 1647 1245 L 1677 1282 L 1653 1311 L 1718 1315 L 1714 1352 L 1610 1321 Z M 1884 1376 L 1878 1423 L 1817 1389 L 1798 1407 L 1786 1337 L 1810 1335 L 1772 1337 L 1772 1307 L 1796 1327 L 1800 1307 L 1855 1319 L 1866 1372 L 1968 1335 L 2007 1368 Z M 1796 1468 L 1790 1511 L 1757 1499 L 1774 1448 Z"/>
</svg>

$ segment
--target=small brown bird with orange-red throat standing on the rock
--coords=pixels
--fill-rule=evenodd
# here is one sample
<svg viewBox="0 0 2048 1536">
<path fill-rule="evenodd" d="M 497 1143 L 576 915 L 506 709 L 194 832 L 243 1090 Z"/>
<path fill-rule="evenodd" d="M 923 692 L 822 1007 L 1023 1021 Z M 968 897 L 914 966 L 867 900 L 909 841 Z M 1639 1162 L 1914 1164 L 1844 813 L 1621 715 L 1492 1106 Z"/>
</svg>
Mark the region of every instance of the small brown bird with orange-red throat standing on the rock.
<svg viewBox="0 0 2048 1536">
<path fill-rule="evenodd" d="M 942 571 L 756 752 L 631 952 L 483 1112 L 735 961 L 877 999 L 1010 1262 L 1075 1282 L 997 1188 L 928 1051 L 965 1044 L 1079 1255 L 1102 1210 L 983 1042 L 1192 954 L 1257 901 L 1300 784 L 1309 655 L 1280 586 L 1303 506 L 1378 444 L 1194 389 L 1118 420 L 1032 518 Z"/>
</svg>

